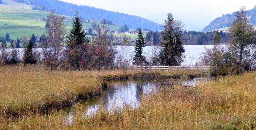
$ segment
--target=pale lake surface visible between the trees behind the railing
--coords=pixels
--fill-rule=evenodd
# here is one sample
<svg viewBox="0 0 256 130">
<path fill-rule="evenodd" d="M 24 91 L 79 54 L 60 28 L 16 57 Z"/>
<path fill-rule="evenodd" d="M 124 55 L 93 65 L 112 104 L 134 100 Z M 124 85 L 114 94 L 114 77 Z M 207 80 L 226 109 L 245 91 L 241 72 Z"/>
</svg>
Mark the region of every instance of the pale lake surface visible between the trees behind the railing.
<svg viewBox="0 0 256 130">
<path fill-rule="evenodd" d="M 200 54 L 204 52 L 204 47 L 208 49 L 213 47 L 213 45 L 184 45 L 184 54 L 186 55 L 186 58 L 184 59 L 182 66 L 192 66 L 196 61 L 198 61 Z M 134 46 L 116 46 L 116 50 L 118 51 L 116 57 L 121 56 L 123 60 L 130 60 L 130 63 L 132 62 L 132 57 L 134 56 Z M 159 50 L 158 46 L 146 46 L 143 49 L 143 55 L 149 59 L 156 53 L 157 50 Z M 21 58 L 23 56 L 23 49 L 18 49 L 18 51 Z M 42 49 L 37 48 L 36 51 L 41 52 Z"/>
</svg>

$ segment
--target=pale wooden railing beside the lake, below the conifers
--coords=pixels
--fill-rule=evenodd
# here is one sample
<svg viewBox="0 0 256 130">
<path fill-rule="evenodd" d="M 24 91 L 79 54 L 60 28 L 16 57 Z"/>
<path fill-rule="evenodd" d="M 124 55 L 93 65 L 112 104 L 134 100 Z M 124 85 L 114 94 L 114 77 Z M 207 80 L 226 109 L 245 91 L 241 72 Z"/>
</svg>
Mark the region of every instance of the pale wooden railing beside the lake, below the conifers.
<svg viewBox="0 0 256 130">
<path fill-rule="evenodd" d="M 210 72 L 210 66 L 133 66 L 136 69 L 152 69 L 152 70 L 201 70 L 203 72 Z"/>
</svg>

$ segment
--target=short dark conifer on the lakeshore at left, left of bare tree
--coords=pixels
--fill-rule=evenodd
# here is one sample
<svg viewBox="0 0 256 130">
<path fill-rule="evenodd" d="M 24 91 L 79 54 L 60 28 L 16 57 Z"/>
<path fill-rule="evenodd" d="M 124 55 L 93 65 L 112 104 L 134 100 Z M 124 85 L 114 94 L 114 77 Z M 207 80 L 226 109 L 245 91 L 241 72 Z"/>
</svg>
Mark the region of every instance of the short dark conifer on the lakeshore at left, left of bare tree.
<svg viewBox="0 0 256 130">
<path fill-rule="evenodd" d="M 33 42 L 29 41 L 28 45 L 24 49 L 24 56 L 22 57 L 23 64 L 36 64 L 36 56 L 33 54 Z"/>
</svg>

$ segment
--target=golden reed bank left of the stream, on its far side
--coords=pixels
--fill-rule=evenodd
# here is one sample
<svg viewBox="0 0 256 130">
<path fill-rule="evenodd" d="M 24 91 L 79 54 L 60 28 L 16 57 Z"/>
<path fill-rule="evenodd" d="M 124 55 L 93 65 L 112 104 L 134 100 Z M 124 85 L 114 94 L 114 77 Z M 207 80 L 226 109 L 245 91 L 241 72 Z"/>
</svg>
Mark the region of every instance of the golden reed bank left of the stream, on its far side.
<svg viewBox="0 0 256 130">
<path fill-rule="evenodd" d="M 18 116 L 70 105 L 101 91 L 102 80 L 76 71 L 50 71 L 40 66 L 0 67 L 1 117 Z"/>
</svg>

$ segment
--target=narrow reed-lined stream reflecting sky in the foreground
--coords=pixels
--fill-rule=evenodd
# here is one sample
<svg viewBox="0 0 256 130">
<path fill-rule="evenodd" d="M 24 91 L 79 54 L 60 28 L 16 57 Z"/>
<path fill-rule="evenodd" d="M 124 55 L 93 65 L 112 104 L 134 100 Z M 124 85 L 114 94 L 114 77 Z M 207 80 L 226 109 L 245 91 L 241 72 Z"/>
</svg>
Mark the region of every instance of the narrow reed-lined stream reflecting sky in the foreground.
<svg viewBox="0 0 256 130">
<path fill-rule="evenodd" d="M 216 80 L 216 77 L 200 77 L 192 79 L 168 79 L 175 84 L 198 85 L 207 81 Z M 161 81 L 162 82 L 162 81 Z M 90 116 L 95 113 L 99 107 L 110 111 L 113 108 L 122 108 L 124 105 L 138 107 L 143 94 L 150 94 L 158 90 L 159 81 L 154 80 L 121 80 L 106 82 L 107 88 L 102 91 L 102 95 L 90 100 L 82 101 L 84 106 L 84 116 Z M 64 111 L 64 115 L 72 122 L 72 117 L 76 105 L 69 107 Z"/>
</svg>

